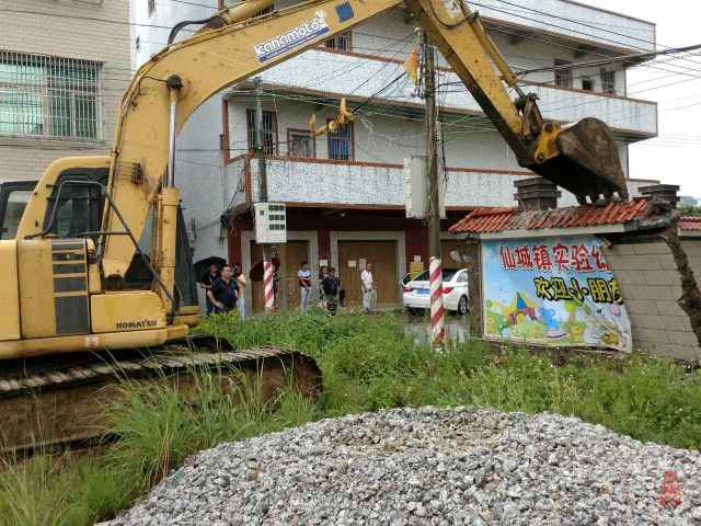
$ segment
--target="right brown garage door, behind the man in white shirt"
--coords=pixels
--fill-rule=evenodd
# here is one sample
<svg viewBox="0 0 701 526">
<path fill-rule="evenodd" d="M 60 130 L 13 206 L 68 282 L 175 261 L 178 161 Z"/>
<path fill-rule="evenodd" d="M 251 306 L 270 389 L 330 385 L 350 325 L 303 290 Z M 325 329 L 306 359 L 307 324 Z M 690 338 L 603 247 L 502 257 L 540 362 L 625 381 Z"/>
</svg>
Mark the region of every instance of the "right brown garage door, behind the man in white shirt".
<svg viewBox="0 0 701 526">
<path fill-rule="evenodd" d="M 365 261 L 364 261 L 365 260 Z M 365 263 L 372 265 L 378 305 L 398 302 L 395 241 L 338 241 L 338 273 L 350 307 L 363 305 L 360 272 Z"/>
</svg>

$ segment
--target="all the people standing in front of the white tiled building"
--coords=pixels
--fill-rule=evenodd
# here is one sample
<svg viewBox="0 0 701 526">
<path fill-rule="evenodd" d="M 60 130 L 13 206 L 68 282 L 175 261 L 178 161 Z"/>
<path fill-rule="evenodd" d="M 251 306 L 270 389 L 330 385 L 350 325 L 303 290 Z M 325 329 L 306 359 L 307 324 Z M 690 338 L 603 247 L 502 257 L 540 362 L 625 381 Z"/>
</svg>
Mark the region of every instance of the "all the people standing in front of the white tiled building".
<svg viewBox="0 0 701 526">
<path fill-rule="evenodd" d="M 300 270 L 297 273 L 297 279 L 299 281 L 300 287 L 299 308 L 303 312 L 308 312 L 312 291 L 309 262 L 301 262 Z M 366 312 L 369 312 L 375 294 L 372 266 L 370 263 L 365 265 L 365 270 L 360 273 L 360 281 L 363 282 L 360 285 L 363 288 L 363 308 Z M 342 285 L 341 278 L 336 276 L 336 270 L 333 266 L 322 266 L 317 281 L 320 298 L 319 307 L 331 315 L 335 315 L 338 306 L 345 305 L 345 290 L 342 288 Z M 207 316 L 212 312 L 219 315 L 238 309 L 239 317 L 244 319 L 243 291 L 246 287 L 246 281 L 241 272 L 240 263 L 223 265 L 221 271 L 219 271 L 216 263 L 211 263 L 209 270 L 202 276 L 199 286 L 206 290 Z"/>
</svg>

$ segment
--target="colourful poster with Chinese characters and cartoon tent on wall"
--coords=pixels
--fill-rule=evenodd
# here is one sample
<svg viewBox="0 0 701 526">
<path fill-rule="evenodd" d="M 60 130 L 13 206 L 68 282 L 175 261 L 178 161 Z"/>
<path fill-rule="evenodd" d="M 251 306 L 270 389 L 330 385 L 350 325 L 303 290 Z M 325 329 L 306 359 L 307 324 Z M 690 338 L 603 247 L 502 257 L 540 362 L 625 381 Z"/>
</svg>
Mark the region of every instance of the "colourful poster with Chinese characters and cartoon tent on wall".
<svg viewBox="0 0 701 526">
<path fill-rule="evenodd" d="M 623 298 L 595 237 L 483 243 L 485 335 L 632 350 Z"/>
</svg>

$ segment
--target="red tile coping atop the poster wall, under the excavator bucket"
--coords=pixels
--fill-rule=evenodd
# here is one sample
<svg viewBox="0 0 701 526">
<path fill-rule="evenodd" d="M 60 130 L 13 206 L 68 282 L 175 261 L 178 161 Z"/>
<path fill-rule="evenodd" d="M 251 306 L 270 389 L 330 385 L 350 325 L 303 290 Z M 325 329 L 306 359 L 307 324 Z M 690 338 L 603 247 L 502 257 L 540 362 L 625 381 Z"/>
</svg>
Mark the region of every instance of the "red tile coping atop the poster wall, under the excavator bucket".
<svg viewBox="0 0 701 526">
<path fill-rule="evenodd" d="M 552 210 L 517 211 L 515 208 L 481 208 L 450 227 L 457 232 L 503 232 L 504 230 L 535 230 L 539 228 L 574 228 L 598 225 L 622 225 L 650 217 L 655 207 L 646 197 L 609 203 L 606 206 L 586 205 Z M 699 218 L 701 219 L 701 218 Z M 701 222 L 699 222 L 701 230 Z"/>
</svg>

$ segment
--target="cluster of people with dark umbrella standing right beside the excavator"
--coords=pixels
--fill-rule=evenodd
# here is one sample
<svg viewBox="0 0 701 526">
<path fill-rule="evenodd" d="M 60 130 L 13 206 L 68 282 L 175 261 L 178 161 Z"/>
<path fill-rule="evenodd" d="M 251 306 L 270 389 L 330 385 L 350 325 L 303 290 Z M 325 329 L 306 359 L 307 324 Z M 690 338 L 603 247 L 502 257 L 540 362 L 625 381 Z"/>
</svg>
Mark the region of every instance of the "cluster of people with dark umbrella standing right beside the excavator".
<svg viewBox="0 0 701 526">
<path fill-rule="evenodd" d="M 245 277 L 241 272 L 241 264 L 223 265 L 221 272 L 216 263 L 209 264 L 209 270 L 202 276 L 199 286 L 206 290 L 207 316 L 239 310 L 239 317 L 245 317 L 245 300 L 243 289 L 246 287 Z"/>
</svg>

